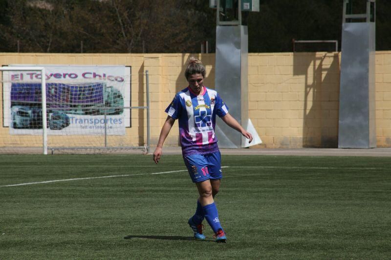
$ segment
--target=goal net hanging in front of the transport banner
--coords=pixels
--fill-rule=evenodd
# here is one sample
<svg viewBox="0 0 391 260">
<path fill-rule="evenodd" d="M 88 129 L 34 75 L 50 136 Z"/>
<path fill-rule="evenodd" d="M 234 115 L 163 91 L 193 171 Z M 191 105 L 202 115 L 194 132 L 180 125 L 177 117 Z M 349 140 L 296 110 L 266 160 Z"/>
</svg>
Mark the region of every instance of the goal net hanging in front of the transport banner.
<svg viewBox="0 0 391 260">
<path fill-rule="evenodd" d="M 49 153 L 114 152 L 146 147 L 146 131 L 140 131 L 139 127 L 146 126 L 147 113 L 131 113 L 130 67 L 44 67 L 45 95 L 39 71 L 2 72 L 2 127 L 9 130 L 3 146 L 10 152 L 40 148 L 45 135 Z M 144 104 L 137 105 L 147 108 Z"/>
</svg>

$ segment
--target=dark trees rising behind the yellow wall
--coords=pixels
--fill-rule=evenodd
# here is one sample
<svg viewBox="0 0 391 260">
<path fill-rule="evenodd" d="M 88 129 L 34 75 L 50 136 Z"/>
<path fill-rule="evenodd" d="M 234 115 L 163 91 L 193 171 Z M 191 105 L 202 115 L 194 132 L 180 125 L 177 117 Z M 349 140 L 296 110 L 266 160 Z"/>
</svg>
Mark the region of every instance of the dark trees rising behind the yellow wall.
<svg viewBox="0 0 391 260">
<path fill-rule="evenodd" d="M 353 0 L 365 8 L 365 0 Z M 377 50 L 391 48 L 391 1 L 376 1 Z M 243 12 L 249 52 L 290 52 L 292 39 L 341 41 L 343 0 L 261 0 Z M 362 10 L 361 10 L 362 11 Z M 215 51 L 207 0 L 0 0 L 1 52 L 196 53 Z M 308 51 L 324 49 L 307 49 Z"/>
</svg>

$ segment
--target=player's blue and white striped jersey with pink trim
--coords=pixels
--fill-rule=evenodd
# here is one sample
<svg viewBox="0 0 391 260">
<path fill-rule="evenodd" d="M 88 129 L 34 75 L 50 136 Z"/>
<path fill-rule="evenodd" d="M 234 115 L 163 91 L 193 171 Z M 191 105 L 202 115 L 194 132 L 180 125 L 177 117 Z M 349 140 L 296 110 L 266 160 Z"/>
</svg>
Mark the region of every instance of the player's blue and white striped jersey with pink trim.
<svg viewBox="0 0 391 260">
<path fill-rule="evenodd" d="M 218 151 L 215 136 L 216 115 L 228 113 L 228 107 L 215 90 L 206 88 L 199 96 L 189 88 L 178 92 L 166 113 L 178 119 L 183 155 L 209 154 Z"/>
</svg>

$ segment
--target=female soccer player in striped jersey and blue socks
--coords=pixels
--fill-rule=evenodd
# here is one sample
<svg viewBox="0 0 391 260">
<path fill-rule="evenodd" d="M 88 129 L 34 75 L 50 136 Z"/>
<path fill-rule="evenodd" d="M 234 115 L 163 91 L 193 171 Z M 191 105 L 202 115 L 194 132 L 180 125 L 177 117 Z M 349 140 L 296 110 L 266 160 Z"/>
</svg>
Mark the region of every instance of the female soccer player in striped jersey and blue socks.
<svg viewBox="0 0 391 260">
<path fill-rule="evenodd" d="M 168 117 L 153 152 L 153 160 L 155 163 L 159 162 L 163 143 L 174 121 L 178 119 L 183 160 L 199 193 L 195 215 L 188 223 L 194 231 L 194 238 L 204 240 L 201 223 L 205 218 L 216 234 L 216 241 L 226 242 L 226 234 L 221 227 L 214 202 L 222 178 L 221 156 L 215 136 L 216 115 L 250 142 L 253 137 L 228 113 L 227 105 L 217 92 L 203 85 L 205 67 L 200 60 L 190 58 L 185 77 L 189 86 L 178 92 L 166 109 Z"/>
</svg>

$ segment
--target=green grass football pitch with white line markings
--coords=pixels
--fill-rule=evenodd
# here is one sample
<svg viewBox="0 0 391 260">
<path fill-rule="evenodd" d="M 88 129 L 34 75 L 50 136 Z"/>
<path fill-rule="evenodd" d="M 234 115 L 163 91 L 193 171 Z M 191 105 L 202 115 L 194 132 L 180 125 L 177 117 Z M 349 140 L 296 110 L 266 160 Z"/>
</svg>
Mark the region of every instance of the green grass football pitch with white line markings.
<svg viewBox="0 0 391 260">
<path fill-rule="evenodd" d="M 1 155 L 0 259 L 391 258 L 390 158 L 222 164 L 225 244 L 206 221 L 208 239 L 192 240 L 197 192 L 181 156 Z M 96 178 L 113 175 L 126 176 Z"/>
</svg>

